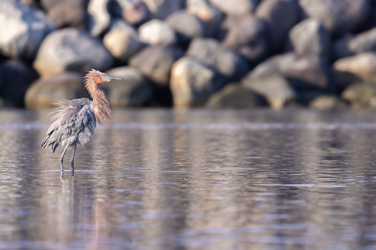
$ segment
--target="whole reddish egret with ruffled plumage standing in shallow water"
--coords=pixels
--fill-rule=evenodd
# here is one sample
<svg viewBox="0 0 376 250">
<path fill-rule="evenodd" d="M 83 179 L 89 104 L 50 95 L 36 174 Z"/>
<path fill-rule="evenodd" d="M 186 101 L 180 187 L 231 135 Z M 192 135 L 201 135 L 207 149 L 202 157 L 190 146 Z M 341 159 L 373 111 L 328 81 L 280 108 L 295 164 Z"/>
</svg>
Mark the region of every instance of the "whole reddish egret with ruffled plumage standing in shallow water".
<svg viewBox="0 0 376 250">
<path fill-rule="evenodd" d="M 96 121 L 106 127 L 115 122 L 114 112 L 108 102 L 105 91 L 100 84 L 111 80 L 123 80 L 111 77 L 98 70 L 91 69 L 85 75 L 85 88 L 93 100 L 80 98 L 75 100 L 61 100 L 55 103 L 58 108 L 53 109 L 51 120 L 53 123 L 47 130 L 47 136 L 42 141 L 41 147 L 52 147 L 52 153 L 61 145 L 64 148 L 60 156 L 60 167 L 63 171 L 63 157 L 68 148 L 73 148 L 71 166 L 73 166 L 74 153 L 77 145 L 88 143 L 96 128 Z"/>
</svg>

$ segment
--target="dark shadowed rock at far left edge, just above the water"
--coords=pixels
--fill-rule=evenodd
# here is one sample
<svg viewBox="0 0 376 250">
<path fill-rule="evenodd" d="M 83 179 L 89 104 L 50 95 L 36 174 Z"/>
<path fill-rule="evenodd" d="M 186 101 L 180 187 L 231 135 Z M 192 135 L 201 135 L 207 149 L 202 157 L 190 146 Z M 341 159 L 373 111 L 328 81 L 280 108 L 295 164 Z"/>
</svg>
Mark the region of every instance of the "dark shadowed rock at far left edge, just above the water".
<svg viewBox="0 0 376 250">
<path fill-rule="evenodd" d="M 38 77 L 35 70 L 19 60 L 9 59 L 0 63 L 2 86 L 0 92 L 5 106 L 24 106 L 27 87 Z"/>
</svg>

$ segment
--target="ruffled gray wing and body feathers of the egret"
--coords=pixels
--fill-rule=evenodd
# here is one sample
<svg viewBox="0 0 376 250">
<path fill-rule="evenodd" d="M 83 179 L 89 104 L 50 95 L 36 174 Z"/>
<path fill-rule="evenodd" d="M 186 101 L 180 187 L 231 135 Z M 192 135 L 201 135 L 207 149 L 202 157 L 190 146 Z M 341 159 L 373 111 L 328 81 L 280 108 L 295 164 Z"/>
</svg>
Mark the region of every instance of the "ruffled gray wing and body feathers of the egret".
<svg viewBox="0 0 376 250">
<path fill-rule="evenodd" d="M 56 105 L 58 108 L 54 109 L 51 114 L 54 114 L 51 120 L 53 123 L 47 130 L 47 136 L 41 143 L 41 147 L 49 147 L 52 145 L 52 153 L 58 147 L 59 142 L 69 139 L 73 143 L 77 139 L 77 135 L 82 129 L 85 129 L 90 120 L 95 120 L 94 114 L 90 109 L 92 101 L 87 98 L 76 100 L 63 100 Z M 93 126 L 94 125 L 94 126 Z M 89 124 L 92 131 L 95 129 L 94 124 Z"/>
</svg>

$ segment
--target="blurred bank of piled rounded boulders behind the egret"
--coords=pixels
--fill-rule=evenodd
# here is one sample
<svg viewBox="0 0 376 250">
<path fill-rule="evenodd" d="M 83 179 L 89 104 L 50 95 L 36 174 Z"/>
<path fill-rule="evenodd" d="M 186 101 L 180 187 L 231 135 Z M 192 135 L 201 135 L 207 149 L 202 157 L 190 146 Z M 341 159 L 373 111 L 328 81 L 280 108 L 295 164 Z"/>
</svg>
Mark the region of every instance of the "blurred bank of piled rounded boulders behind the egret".
<svg viewBox="0 0 376 250">
<path fill-rule="evenodd" d="M 375 0 L 1 0 L 0 106 L 376 107 Z"/>
</svg>

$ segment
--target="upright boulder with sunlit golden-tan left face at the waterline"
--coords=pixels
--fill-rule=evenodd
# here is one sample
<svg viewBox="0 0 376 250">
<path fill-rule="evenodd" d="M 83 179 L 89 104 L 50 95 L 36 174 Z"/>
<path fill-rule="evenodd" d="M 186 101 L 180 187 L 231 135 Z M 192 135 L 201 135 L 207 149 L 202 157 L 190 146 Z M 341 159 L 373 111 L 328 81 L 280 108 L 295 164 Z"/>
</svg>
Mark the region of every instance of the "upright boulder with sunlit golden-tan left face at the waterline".
<svg viewBox="0 0 376 250">
<path fill-rule="evenodd" d="M 200 61 L 182 57 L 171 69 L 170 89 L 174 106 L 200 106 L 225 84 L 225 78 Z"/>
</svg>

